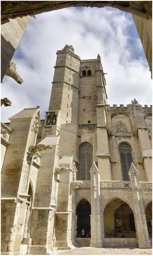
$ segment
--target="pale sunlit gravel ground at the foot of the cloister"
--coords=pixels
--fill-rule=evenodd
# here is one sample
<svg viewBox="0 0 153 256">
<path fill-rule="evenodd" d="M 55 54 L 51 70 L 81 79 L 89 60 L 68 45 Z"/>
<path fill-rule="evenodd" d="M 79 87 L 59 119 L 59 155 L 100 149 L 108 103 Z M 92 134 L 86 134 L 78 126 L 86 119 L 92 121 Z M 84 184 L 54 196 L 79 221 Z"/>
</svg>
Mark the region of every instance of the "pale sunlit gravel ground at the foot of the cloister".
<svg viewBox="0 0 153 256">
<path fill-rule="evenodd" d="M 98 255 L 98 254 L 121 254 L 121 255 L 134 255 L 134 254 L 151 254 L 152 249 L 139 249 L 137 247 L 130 248 L 94 248 L 87 246 L 77 246 L 73 250 L 57 250 L 56 255 Z"/>
</svg>

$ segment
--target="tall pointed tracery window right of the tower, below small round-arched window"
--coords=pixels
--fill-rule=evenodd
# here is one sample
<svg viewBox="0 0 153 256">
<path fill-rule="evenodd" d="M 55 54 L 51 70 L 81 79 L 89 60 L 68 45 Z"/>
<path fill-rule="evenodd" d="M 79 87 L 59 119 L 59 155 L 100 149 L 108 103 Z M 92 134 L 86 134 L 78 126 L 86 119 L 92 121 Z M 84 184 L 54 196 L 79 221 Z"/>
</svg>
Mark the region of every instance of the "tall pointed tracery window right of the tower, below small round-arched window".
<svg viewBox="0 0 153 256">
<path fill-rule="evenodd" d="M 128 172 L 131 163 L 133 162 L 131 146 L 126 142 L 122 142 L 119 146 L 119 153 L 120 164 L 122 169 L 122 178 L 123 180 L 129 180 Z"/>
</svg>

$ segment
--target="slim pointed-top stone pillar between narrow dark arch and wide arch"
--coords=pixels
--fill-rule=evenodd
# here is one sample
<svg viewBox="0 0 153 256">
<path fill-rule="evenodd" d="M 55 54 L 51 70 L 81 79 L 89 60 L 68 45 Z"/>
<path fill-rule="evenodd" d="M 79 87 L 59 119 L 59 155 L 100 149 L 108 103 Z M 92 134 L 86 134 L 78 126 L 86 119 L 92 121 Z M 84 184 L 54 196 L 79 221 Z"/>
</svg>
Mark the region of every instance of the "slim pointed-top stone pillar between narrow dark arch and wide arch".
<svg viewBox="0 0 153 256">
<path fill-rule="evenodd" d="M 91 173 L 91 241 L 90 247 L 102 247 L 104 231 L 102 231 L 102 215 L 100 207 L 100 173 L 93 162 Z"/>
</svg>

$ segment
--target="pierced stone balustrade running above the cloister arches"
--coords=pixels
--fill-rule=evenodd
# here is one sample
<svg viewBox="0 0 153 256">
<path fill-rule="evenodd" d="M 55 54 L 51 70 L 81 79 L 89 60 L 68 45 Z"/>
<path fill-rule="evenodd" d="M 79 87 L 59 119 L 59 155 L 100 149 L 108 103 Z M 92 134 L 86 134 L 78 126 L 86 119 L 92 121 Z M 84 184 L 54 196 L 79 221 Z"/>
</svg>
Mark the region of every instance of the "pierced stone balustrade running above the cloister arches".
<svg viewBox="0 0 153 256">
<path fill-rule="evenodd" d="M 149 189 L 151 190 L 152 189 L 152 182 L 143 182 L 143 181 L 140 181 L 139 182 L 140 184 L 140 188 L 141 189 Z M 81 186 L 79 187 L 80 189 L 81 188 L 91 188 L 91 181 L 89 180 L 86 180 L 86 181 L 83 181 L 83 183 L 81 184 Z M 100 188 L 101 189 L 105 189 L 105 188 L 128 188 L 128 189 L 131 189 L 131 182 L 130 181 L 116 181 L 116 180 L 101 180 L 100 181 Z M 136 189 L 136 188 L 135 188 Z"/>
</svg>

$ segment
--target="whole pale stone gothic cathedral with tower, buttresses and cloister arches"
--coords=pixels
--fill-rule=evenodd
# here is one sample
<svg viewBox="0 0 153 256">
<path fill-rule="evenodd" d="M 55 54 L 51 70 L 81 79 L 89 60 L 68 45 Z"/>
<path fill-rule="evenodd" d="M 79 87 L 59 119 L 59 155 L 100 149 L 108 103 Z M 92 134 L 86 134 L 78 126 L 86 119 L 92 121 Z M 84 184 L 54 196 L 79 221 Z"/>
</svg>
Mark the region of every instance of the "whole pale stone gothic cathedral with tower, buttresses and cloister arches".
<svg viewBox="0 0 153 256">
<path fill-rule="evenodd" d="M 37 106 L 1 124 L 1 252 L 151 248 L 152 106 L 110 107 L 99 54 L 56 54 L 45 120 Z"/>
</svg>

